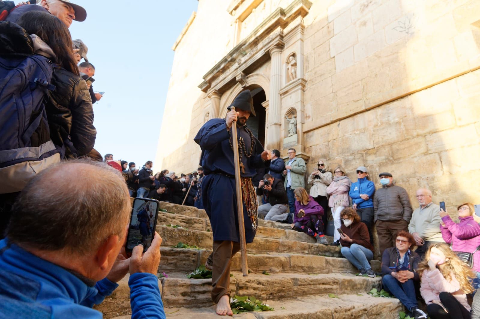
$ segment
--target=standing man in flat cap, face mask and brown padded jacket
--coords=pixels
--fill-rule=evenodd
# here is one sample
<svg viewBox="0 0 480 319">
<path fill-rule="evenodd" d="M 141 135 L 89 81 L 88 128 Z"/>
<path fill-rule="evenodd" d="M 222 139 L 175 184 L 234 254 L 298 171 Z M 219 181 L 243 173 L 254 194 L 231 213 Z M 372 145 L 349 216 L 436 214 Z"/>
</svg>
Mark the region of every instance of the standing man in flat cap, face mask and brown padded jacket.
<svg viewBox="0 0 480 319">
<path fill-rule="evenodd" d="M 373 198 L 373 211 L 382 256 L 385 249 L 395 247 L 397 231 L 408 231 L 412 205 L 405 188 L 394 185 L 392 174 L 384 172 L 378 176 L 382 188 L 376 191 Z"/>
</svg>

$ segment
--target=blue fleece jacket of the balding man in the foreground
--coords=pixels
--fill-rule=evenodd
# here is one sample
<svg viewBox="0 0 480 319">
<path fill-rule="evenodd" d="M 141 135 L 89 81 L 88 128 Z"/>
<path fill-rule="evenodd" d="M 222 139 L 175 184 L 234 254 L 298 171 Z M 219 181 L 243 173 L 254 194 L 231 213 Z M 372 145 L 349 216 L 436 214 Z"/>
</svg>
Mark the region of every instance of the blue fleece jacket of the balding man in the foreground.
<svg viewBox="0 0 480 319">
<path fill-rule="evenodd" d="M 36 257 L 17 245 L 0 240 L 0 318 L 101 319 L 92 309 L 117 284 L 107 278 L 94 286 L 86 279 Z M 132 319 L 164 319 L 158 279 L 151 273 L 134 273 L 129 280 Z"/>
</svg>

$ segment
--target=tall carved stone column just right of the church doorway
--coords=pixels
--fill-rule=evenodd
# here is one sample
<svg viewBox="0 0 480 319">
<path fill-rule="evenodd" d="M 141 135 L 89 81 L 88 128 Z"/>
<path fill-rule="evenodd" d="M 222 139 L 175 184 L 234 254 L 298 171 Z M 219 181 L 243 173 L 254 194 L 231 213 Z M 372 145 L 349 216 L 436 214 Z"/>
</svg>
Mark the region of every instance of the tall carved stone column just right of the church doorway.
<svg viewBox="0 0 480 319">
<path fill-rule="evenodd" d="M 269 50 L 272 58 L 270 69 L 270 96 L 268 106 L 268 134 L 266 148 L 280 148 L 280 88 L 282 86 L 282 50 L 281 46 L 274 46 Z"/>
</svg>

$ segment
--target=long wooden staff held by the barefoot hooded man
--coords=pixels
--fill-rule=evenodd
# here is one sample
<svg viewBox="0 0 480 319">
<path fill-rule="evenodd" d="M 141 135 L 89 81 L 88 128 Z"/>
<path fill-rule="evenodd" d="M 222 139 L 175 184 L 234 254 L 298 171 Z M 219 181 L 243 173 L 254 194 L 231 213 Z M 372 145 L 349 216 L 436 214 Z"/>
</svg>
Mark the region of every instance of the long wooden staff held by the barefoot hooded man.
<svg viewBox="0 0 480 319">
<path fill-rule="evenodd" d="M 235 107 L 230 108 L 235 111 Z M 247 263 L 247 244 L 245 243 L 245 222 L 243 220 L 243 201 L 241 196 L 240 183 L 240 158 L 239 158 L 239 144 L 237 140 L 237 121 L 232 123 L 232 145 L 233 145 L 233 163 L 235 166 L 235 188 L 237 189 L 237 213 L 239 219 L 239 234 L 240 234 L 240 254 L 241 254 L 241 270 L 243 276 L 248 276 Z"/>
</svg>

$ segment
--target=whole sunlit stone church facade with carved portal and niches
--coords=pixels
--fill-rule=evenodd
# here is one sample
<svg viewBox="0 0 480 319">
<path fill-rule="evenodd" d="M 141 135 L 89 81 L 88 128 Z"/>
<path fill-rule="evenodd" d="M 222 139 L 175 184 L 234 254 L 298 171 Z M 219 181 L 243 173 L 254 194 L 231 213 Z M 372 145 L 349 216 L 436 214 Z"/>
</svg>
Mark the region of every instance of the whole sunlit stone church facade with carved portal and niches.
<svg viewBox="0 0 480 319">
<path fill-rule="evenodd" d="M 157 171 L 254 94 L 252 132 L 312 171 L 366 166 L 447 206 L 480 204 L 480 0 L 199 0 L 173 49 Z"/>
</svg>

